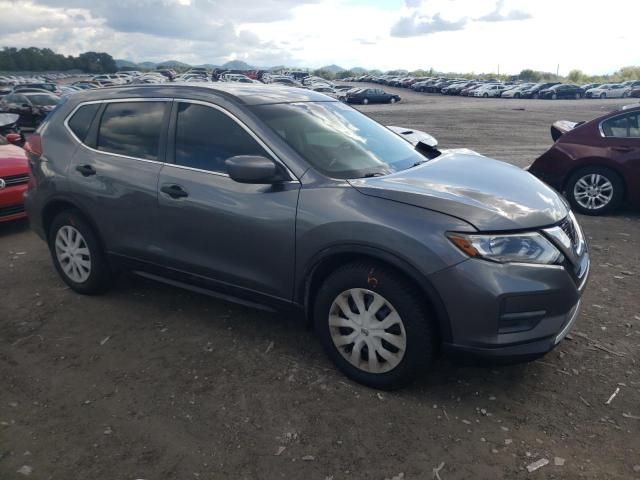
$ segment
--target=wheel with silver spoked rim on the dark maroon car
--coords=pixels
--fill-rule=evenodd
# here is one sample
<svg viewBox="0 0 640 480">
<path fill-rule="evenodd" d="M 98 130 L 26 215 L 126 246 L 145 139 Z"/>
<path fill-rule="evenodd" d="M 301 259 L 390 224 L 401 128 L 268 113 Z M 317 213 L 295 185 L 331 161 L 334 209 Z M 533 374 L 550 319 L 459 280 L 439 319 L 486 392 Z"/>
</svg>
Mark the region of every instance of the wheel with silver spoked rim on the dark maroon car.
<svg viewBox="0 0 640 480">
<path fill-rule="evenodd" d="M 615 210 L 624 197 L 624 185 L 616 172 L 604 167 L 586 167 L 567 182 L 567 197 L 584 215 L 602 215 Z"/>
</svg>

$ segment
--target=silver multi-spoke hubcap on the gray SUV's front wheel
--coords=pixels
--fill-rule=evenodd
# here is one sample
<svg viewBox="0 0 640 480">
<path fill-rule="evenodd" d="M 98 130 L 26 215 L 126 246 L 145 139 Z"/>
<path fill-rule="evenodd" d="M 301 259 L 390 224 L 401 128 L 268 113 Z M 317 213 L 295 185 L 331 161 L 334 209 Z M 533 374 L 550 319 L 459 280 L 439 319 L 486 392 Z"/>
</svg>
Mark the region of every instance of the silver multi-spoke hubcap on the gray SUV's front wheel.
<svg viewBox="0 0 640 480">
<path fill-rule="evenodd" d="M 354 367 L 369 373 L 393 370 L 404 358 L 407 334 L 396 309 L 378 293 L 346 290 L 329 311 L 331 339 Z"/>
</svg>

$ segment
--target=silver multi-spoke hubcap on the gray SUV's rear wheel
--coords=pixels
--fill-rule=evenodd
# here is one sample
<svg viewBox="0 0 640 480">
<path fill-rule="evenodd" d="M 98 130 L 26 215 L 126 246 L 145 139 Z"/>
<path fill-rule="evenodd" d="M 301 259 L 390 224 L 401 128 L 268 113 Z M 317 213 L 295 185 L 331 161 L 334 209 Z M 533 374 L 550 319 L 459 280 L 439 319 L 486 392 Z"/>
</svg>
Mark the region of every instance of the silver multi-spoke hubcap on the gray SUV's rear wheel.
<svg viewBox="0 0 640 480">
<path fill-rule="evenodd" d="M 83 283 L 91 274 L 91 254 L 82 234 L 65 225 L 56 235 L 56 258 L 62 271 L 76 283 Z"/>
</svg>

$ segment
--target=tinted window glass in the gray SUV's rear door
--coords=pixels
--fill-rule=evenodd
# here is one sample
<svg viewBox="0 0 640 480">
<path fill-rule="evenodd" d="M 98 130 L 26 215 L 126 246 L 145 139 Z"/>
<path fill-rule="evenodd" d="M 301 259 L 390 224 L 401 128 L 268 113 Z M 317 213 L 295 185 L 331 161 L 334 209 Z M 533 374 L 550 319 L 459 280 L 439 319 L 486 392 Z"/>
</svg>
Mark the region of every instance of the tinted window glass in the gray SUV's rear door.
<svg viewBox="0 0 640 480">
<path fill-rule="evenodd" d="M 157 160 L 165 106 L 165 102 L 107 104 L 98 132 L 98 150 Z"/>
</svg>

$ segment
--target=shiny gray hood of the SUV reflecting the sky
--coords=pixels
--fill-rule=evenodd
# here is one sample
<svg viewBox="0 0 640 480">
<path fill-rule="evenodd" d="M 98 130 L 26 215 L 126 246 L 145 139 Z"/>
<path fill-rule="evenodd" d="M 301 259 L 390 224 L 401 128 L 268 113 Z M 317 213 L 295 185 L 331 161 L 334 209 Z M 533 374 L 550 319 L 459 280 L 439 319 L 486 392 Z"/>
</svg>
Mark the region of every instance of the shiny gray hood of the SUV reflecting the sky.
<svg viewBox="0 0 640 480">
<path fill-rule="evenodd" d="M 481 231 L 539 228 L 568 214 L 560 196 L 533 175 L 464 150 L 445 152 L 401 172 L 349 183 L 365 195 L 445 213 Z"/>
</svg>

